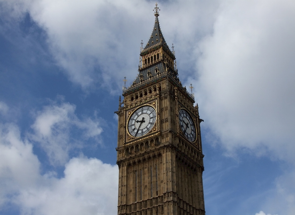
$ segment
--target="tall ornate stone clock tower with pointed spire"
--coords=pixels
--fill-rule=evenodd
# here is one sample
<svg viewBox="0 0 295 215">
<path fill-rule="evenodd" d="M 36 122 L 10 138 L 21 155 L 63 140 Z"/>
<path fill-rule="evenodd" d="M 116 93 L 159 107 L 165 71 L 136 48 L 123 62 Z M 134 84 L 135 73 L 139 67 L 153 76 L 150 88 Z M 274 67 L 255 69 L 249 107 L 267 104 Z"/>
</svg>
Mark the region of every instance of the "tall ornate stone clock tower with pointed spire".
<svg viewBox="0 0 295 215">
<path fill-rule="evenodd" d="M 139 74 L 116 111 L 118 214 L 204 215 L 202 119 L 179 81 L 158 10 Z"/>
</svg>

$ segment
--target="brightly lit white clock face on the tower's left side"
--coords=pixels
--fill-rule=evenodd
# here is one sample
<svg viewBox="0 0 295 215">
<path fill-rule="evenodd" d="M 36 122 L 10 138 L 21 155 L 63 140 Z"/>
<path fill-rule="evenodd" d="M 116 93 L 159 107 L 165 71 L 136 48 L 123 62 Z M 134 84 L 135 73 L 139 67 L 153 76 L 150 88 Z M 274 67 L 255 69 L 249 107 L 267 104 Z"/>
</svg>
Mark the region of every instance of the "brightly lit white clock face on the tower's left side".
<svg viewBox="0 0 295 215">
<path fill-rule="evenodd" d="M 133 137 L 141 137 L 153 128 L 156 122 L 156 111 L 151 106 L 138 108 L 130 117 L 128 131 Z"/>
</svg>

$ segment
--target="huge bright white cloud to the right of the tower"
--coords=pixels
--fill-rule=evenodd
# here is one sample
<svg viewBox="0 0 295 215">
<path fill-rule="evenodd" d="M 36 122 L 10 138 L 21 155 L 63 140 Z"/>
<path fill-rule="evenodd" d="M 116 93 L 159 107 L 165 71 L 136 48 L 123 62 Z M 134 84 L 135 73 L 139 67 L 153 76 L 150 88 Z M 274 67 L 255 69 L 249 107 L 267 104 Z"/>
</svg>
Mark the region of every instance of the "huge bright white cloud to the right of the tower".
<svg viewBox="0 0 295 215">
<path fill-rule="evenodd" d="M 199 43 L 200 114 L 230 151 L 295 163 L 295 2 L 224 1 Z"/>
</svg>

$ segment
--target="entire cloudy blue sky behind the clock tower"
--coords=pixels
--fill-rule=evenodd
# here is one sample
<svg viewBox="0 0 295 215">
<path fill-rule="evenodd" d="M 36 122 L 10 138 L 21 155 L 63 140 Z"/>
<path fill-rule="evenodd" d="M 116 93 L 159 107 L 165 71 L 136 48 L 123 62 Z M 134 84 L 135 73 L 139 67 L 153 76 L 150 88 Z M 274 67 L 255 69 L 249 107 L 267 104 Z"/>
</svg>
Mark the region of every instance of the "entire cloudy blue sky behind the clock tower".
<svg viewBox="0 0 295 215">
<path fill-rule="evenodd" d="M 118 97 L 154 1 L 0 0 L 0 214 L 117 213 Z M 199 104 L 206 215 L 295 214 L 295 1 L 158 1 Z"/>
</svg>

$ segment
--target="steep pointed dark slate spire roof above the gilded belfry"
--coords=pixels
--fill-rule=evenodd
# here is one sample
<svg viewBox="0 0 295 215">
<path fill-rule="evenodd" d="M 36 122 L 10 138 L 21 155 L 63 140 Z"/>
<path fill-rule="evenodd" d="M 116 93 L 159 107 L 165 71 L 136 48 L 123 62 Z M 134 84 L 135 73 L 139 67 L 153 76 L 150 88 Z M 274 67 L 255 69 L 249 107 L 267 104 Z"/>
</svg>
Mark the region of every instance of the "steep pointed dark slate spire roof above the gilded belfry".
<svg viewBox="0 0 295 215">
<path fill-rule="evenodd" d="M 145 46 L 145 48 L 143 49 L 142 52 L 147 51 L 151 47 L 159 45 L 160 43 L 162 43 L 163 46 L 165 46 L 165 47 L 167 47 L 169 49 L 169 47 L 168 47 L 168 45 L 167 45 L 167 43 L 166 43 L 166 41 L 165 41 L 165 39 L 163 37 L 163 34 L 161 32 L 158 16 L 156 16 L 156 18 L 155 18 L 155 26 L 153 28 L 153 32 L 151 33 L 151 37 L 148 40 L 148 43 L 147 43 L 147 45 Z"/>
</svg>

